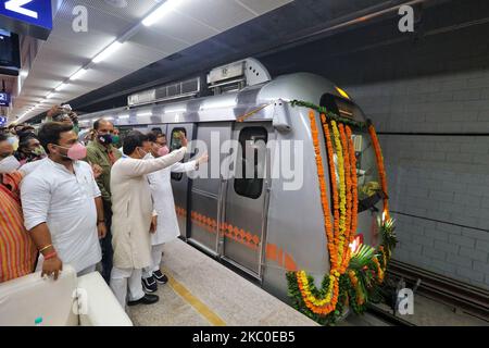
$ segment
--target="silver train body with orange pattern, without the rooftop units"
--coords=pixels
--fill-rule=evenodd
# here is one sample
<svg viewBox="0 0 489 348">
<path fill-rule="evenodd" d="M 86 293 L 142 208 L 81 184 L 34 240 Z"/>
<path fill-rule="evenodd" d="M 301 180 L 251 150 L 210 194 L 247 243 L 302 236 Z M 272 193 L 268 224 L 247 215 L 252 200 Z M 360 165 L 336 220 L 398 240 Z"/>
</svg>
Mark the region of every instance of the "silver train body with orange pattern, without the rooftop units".
<svg viewBox="0 0 489 348">
<path fill-rule="evenodd" d="M 310 128 L 310 110 L 292 108 L 287 101 L 304 100 L 319 104 L 325 96 L 344 101 L 351 116 L 364 121 L 360 109 L 329 80 L 313 74 L 297 73 L 246 87 L 224 95 L 177 101 L 127 110 L 114 109 L 80 116 L 86 124 L 99 117 L 114 120 L 121 129 L 149 132 L 160 127 L 171 145 L 174 130 L 185 129 L 187 138 L 205 141 L 211 147 L 211 132 L 221 139 L 253 138 L 303 142 L 303 184 L 300 189 L 286 190 L 288 179 L 265 177 L 239 189 L 238 178 L 195 178 L 173 174 L 175 206 L 183 239 L 204 252 L 250 275 L 267 291 L 287 301 L 287 270 L 305 270 L 315 276 L 317 285 L 329 271 L 329 254 L 324 231 L 317 167 Z M 284 105 L 279 105 L 284 102 Z M 237 120 L 262 105 L 271 104 L 243 122 Z M 277 109 L 281 108 L 281 109 Z M 286 127 L 278 113 L 285 113 Z M 319 115 L 316 113 L 316 122 Z M 359 167 L 376 171 L 376 160 L 367 134 L 355 140 Z M 329 179 L 325 141 L 319 133 L 325 176 Z M 195 153 L 188 153 L 188 161 Z M 221 154 L 221 159 L 226 153 Z M 212 157 L 212 154 L 211 154 Z M 211 160 L 216 160 L 215 158 Z M 275 151 L 262 161 L 269 166 L 276 161 Z M 223 173 L 221 173 L 223 174 Z M 249 185 L 250 186 L 250 185 Z M 244 191 L 244 195 L 243 195 Z M 252 196 L 252 197 L 250 197 Z M 331 204 L 330 204 L 331 206 Z M 376 207 L 380 208 L 381 202 Z M 359 213 L 358 232 L 364 243 L 376 244 L 376 219 L 381 211 Z M 217 233 L 220 231 L 221 233 Z"/>
</svg>

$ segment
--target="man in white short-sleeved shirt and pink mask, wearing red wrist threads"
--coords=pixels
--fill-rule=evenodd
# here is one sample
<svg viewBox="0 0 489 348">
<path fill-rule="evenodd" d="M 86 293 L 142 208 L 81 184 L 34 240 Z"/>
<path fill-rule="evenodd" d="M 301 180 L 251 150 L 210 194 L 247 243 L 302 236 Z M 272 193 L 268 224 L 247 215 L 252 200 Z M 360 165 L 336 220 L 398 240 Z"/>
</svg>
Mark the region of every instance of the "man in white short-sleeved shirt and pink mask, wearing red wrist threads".
<svg viewBox="0 0 489 348">
<path fill-rule="evenodd" d="M 78 275 L 93 272 L 106 229 L 93 172 L 79 161 L 87 150 L 70 124 L 46 123 L 38 136 L 48 158 L 21 186 L 24 224 L 40 252 L 38 270 L 54 279 L 63 263 Z"/>
</svg>

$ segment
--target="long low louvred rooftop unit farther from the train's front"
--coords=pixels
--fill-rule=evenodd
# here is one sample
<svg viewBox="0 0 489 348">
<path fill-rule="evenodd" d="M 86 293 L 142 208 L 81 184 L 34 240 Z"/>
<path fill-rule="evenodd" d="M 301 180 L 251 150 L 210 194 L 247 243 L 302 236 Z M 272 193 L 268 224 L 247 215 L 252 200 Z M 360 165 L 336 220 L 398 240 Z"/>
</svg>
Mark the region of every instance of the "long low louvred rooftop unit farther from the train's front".
<svg viewBox="0 0 489 348">
<path fill-rule="evenodd" d="M 130 108 L 161 101 L 189 98 L 197 96 L 199 92 L 200 77 L 195 77 L 130 95 L 127 97 L 127 105 Z"/>
</svg>

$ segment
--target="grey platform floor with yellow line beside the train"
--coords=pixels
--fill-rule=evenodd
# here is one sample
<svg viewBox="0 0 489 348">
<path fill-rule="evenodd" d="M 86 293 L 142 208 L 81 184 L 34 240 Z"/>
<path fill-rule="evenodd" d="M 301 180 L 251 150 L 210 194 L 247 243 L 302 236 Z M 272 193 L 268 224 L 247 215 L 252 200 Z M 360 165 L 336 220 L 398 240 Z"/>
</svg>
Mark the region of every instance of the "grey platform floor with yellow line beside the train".
<svg viewBox="0 0 489 348">
<path fill-rule="evenodd" d="M 180 239 L 165 245 L 162 271 L 160 301 L 128 308 L 136 326 L 317 326 Z"/>
</svg>

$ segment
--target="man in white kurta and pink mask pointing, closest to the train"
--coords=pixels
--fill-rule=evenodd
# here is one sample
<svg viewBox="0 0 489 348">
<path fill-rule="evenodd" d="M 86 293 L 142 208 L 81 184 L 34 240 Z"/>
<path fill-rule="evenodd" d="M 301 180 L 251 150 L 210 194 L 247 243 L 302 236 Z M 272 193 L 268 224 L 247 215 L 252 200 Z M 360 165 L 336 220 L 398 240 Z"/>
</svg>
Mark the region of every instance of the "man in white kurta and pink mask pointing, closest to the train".
<svg viewBox="0 0 489 348">
<path fill-rule="evenodd" d="M 164 139 L 164 137 L 160 136 L 156 139 L 156 135 L 151 133 L 148 137 L 151 142 L 151 152 L 145 159 L 160 158 L 170 152 L 166 144 L 160 142 L 160 139 Z M 206 161 L 208 156 L 203 154 L 197 160 L 187 163 L 177 162 L 148 175 L 154 211 L 158 214 L 158 223 L 156 232 L 151 235 L 151 265 L 146 268 L 142 274 L 142 286 L 147 293 L 154 293 L 158 289 L 158 284 L 165 284 L 168 281 L 160 270 L 163 245 L 180 235 L 178 220 L 175 213 L 171 174 L 172 172 L 187 173 L 196 171 L 201 163 Z"/>
</svg>

